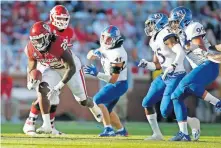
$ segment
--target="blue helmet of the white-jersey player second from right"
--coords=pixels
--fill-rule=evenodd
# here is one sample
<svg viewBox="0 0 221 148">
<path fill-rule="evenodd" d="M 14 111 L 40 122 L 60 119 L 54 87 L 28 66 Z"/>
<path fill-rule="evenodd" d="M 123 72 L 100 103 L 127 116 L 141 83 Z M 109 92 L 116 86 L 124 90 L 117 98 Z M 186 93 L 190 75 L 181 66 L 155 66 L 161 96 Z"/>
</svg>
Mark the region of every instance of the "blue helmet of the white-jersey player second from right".
<svg viewBox="0 0 221 148">
<path fill-rule="evenodd" d="M 168 17 L 163 13 L 154 13 L 145 21 L 144 31 L 147 36 L 152 36 L 168 25 Z"/>
</svg>

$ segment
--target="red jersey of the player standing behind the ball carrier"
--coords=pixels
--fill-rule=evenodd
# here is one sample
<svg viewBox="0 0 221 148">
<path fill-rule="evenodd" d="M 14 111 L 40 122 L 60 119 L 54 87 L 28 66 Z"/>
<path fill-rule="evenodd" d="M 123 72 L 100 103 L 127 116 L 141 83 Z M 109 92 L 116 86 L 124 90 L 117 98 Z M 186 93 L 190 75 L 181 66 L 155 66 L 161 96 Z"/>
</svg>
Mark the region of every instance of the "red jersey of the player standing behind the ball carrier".
<svg viewBox="0 0 221 148">
<path fill-rule="evenodd" d="M 64 29 L 63 31 L 59 31 L 57 27 L 52 25 L 51 23 L 48 24 L 51 32 L 54 33 L 57 36 L 62 36 L 65 39 L 68 40 L 68 44 L 73 44 L 74 42 L 74 31 L 71 27 L 68 27 L 67 29 Z"/>
</svg>

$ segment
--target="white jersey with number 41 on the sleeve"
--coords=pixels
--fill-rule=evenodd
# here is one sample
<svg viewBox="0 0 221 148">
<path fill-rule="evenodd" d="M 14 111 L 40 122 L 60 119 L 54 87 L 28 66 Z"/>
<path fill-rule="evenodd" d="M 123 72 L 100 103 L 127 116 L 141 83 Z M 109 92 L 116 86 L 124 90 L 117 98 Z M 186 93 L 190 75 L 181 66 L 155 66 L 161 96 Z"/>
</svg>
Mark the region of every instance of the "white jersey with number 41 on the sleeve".
<svg viewBox="0 0 221 148">
<path fill-rule="evenodd" d="M 111 75 L 111 64 L 124 63 L 117 81 L 127 80 L 127 52 L 124 47 L 102 49 L 101 64 L 106 75 Z"/>
</svg>

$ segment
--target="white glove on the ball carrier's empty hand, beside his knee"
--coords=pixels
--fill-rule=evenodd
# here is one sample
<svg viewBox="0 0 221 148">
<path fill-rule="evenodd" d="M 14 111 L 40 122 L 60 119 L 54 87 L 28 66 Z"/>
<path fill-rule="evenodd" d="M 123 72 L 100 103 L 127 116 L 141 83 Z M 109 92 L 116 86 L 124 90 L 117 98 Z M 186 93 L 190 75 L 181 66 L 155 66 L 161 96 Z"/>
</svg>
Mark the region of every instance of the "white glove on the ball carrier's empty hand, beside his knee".
<svg viewBox="0 0 221 148">
<path fill-rule="evenodd" d="M 61 81 L 59 82 L 54 88 L 50 89 L 50 92 L 47 94 L 48 100 L 51 102 L 54 102 L 53 99 L 56 99 L 57 96 L 59 96 L 59 94 L 61 93 L 61 88 L 64 86 L 65 84 Z"/>
</svg>

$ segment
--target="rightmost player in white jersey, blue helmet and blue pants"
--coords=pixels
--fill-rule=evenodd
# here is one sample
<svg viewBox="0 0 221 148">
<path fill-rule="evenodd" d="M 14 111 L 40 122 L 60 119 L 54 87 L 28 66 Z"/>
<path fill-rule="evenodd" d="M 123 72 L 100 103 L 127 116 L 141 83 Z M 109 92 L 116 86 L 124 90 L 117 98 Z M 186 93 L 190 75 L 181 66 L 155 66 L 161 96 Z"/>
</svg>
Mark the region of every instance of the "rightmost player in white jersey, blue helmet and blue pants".
<svg viewBox="0 0 221 148">
<path fill-rule="evenodd" d="M 185 7 L 177 7 L 171 11 L 170 25 L 175 30 L 183 30 L 185 36 L 183 44 L 186 46 L 186 56 L 194 68 L 182 79 L 171 96 L 174 102 L 180 102 L 179 105 L 174 106 L 176 118 L 184 118 L 186 116 L 187 111 L 183 110 L 182 107 L 184 106 L 183 100 L 190 94 L 203 98 L 205 101 L 215 105 L 217 110 L 221 110 L 221 101 L 205 90 L 205 87 L 217 78 L 219 65 L 207 59 L 207 49 L 210 44 L 205 38 L 206 32 L 203 25 L 194 22 L 191 11 Z M 188 132 L 186 121 L 180 122 L 185 125 L 183 127 L 184 132 L 178 132 L 171 139 L 172 141 L 182 140 L 183 135 Z"/>
</svg>

